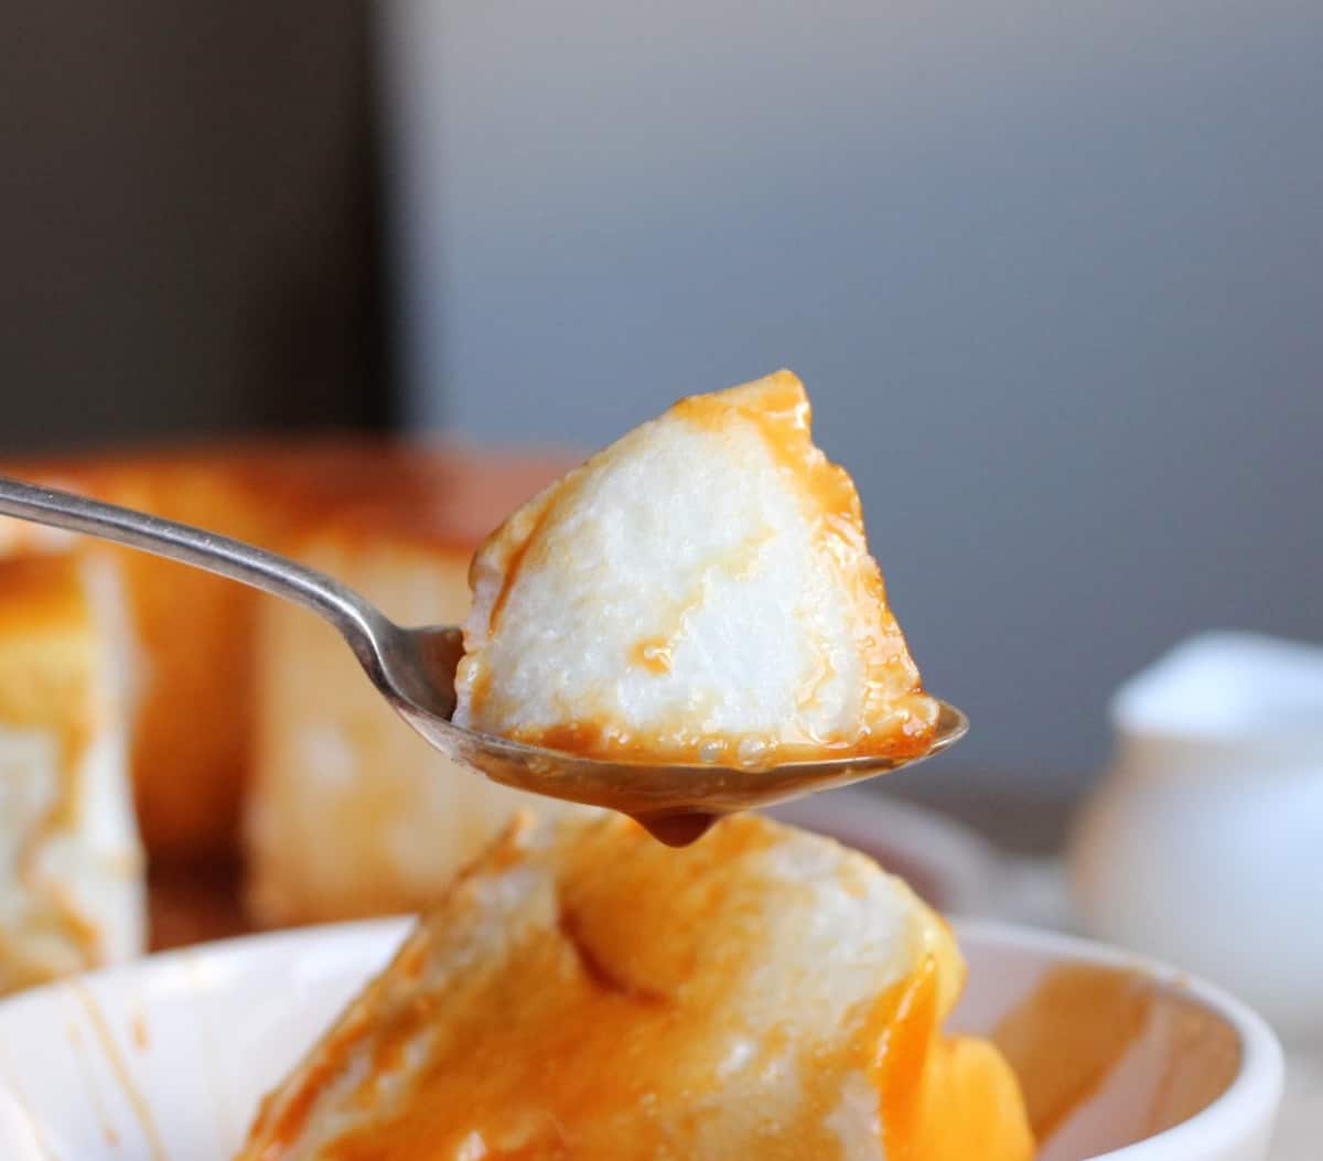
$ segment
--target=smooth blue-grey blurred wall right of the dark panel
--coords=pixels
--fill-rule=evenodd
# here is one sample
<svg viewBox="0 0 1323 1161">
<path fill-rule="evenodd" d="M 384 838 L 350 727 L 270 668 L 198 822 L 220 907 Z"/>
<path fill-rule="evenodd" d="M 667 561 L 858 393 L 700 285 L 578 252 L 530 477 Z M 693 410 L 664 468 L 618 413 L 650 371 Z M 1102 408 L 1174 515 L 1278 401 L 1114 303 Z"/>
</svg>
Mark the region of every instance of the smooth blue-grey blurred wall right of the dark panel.
<svg viewBox="0 0 1323 1161">
<path fill-rule="evenodd" d="M 975 723 L 925 785 L 1074 792 L 1181 635 L 1323 637 L 1316 0 L 386 13 L 411 417 L 795 369 Z"/>
</svg>

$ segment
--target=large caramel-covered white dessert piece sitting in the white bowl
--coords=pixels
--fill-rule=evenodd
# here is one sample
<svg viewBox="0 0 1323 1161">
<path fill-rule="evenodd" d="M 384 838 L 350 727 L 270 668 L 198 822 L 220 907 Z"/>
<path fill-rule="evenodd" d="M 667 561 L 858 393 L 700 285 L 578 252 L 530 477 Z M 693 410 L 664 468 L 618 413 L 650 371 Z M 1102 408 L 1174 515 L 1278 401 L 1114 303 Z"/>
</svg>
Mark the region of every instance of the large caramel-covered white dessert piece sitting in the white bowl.
<svg viewBox="0 0 1323 1161">
<path fill-rule="evenodd" d="M 267 1099 L 241 1161 L 1027 1161 L 963 964 L 865 857 L 755 816 L 517 826 Z"/>
</svg>

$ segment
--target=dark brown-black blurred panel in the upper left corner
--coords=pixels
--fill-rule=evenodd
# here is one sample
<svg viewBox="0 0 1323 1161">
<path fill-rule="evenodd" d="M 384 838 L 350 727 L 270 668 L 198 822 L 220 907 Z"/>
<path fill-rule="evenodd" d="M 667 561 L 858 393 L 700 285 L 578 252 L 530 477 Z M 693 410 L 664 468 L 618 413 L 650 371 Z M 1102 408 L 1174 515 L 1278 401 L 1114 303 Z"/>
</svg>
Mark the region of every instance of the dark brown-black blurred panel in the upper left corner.
<svg viewBox="0 0 1323 1161">
<path fill-rule="evenodd" d="M 389 419 L 368 8 L 0 15 L 0 451 Z"/>
</svg>

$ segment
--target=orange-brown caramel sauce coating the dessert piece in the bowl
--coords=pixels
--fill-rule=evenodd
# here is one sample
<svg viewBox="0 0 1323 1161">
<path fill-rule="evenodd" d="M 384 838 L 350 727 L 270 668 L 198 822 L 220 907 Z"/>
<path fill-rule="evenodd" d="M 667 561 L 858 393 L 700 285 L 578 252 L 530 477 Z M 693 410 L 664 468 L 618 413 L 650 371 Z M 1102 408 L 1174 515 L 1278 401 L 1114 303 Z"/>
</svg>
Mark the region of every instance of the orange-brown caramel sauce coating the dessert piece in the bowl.
<svg viewBox="0 0 1323 1161">
<path fill-rule="evenodd" d="M 803 906 L 803 887 L 732 871 L 775 830 L 733 819 L 679 854 L 630 833 L 618 821 L 569 849 L 554 894 L 505 916 L 499 952 L 433 979 L 415 936 L 269 1100 L 242 1156 L 278 1161 L 323 1121 L 343 1127 L 328 1161 L 828 1161 L 845 1156 L 832 1120 L 853 1078 L 877 1095 L 888 1157 L 1028 1161 L 1005 1064 L 941 1033 L 933 956 L 823 1029 L 830 1009 L 761 961 L 765 916 Z M 795 988 L 783 1018 L 778 992 L 749 990 L 763 971 Z"/>
</svg>

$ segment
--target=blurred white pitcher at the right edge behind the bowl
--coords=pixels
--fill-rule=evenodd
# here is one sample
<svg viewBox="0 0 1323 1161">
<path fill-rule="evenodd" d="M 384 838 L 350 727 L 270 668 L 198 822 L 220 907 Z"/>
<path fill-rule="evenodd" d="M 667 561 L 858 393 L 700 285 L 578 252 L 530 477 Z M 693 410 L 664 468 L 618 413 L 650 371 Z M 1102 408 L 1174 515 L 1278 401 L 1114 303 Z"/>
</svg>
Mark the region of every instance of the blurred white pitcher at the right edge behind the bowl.
<svg viewBox="0 0 1323 1161">
<path fill-rule="evenodd" d="M 1323 1042 L 1323 648 L 1209 633 L 1111 705 L 1070 852 L 1084 924 Z"/>
</svg>

